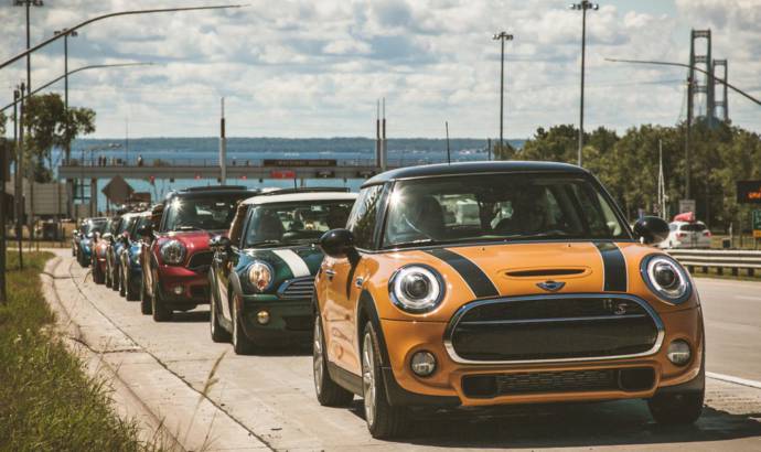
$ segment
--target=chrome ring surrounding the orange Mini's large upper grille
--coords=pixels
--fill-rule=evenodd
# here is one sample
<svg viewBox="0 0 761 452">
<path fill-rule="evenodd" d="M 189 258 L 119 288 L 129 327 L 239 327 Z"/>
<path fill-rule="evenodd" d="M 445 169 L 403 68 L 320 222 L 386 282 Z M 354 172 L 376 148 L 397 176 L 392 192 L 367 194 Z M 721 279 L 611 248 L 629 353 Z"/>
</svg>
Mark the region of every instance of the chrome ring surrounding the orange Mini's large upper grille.
<svg viewBox="0 0 761 452">
<path fill-rule="evenodd" d="M 655 326 L 657 329 L 657 336 L 655 340 L 655 343 L 653 346 L 642 353 L 634 353 L 634 354 L 626 354 L 626 355 L 605 355 L 605 356 L 583 356 L 583 357 L 567 357 L 567 358 L 549 358 L 549 359 L 507 359 L 507 360 L 481 360 L 481 359 L 468 359 L 463 358 L 460 355 L 458 355 L 457 351 L 454 349 L 454 346 L 452 344 L 452 335 L 462 320 L 462 318 L 472 309 L 486 305 L 486 304 L 495 304 L 495 303 L 510 303 L 512 301 L 534 301 L 534 300 L 577 300 L 577 299 L 618 299 L 618 300 L 626 300 L 636 303 L 640 305 L 653 320 L 655 323 Z M 617 319 L 615 316 L 611 316 L 611 320 Z M 534 321 L 549 321 L 551 322 L 553 319 L 537 319 L 537 320 L 525 320 L 525 322 L 521 323 L 530 323 Z M 566 321 L 567 319 L 556 319 L 556 321 Z M 570 320 L 572 321 L 572 320 Z M 450 320 L 449 324 L 447 325 L 447 330 L 444 331 L 444 336 L 443 336 L 443 344 L 444 348 L 447 349 L 447 354 L 449 357 L 458 363 L 458 364 L 473 364 L 473 365 L 495 365 L 495 364 L 551 364 L 551 363 L 574 363 L 574 362 L 592 362 L 592 360 L 610 360 L 610 359 L 625 359 L 625 358 L 636 358 L 636 357 L 644 357 L 644 356 L 651 356 L 656 354 L 660 349 L 661 346 L 663 345 L 663 340 L 665 336 L 665 331 L 663 326 L 663 322 L 661 321 L 661 318 L 658 316 L 657 312 L 644 300 L 630 295 L 630 294 L 619 294 L 619 293 L 571 293 L 571 294 L 540 294 L 540 295 L 527 295 L 527 297 L 507 297 L 507 298 L 496 298 L 496 299 L 489 299 L 489 300 L 479 300 L 479 301 L 473 301 L 471 303 L 464 304 L 461 306 L 452 316 Z"/>
</svg>

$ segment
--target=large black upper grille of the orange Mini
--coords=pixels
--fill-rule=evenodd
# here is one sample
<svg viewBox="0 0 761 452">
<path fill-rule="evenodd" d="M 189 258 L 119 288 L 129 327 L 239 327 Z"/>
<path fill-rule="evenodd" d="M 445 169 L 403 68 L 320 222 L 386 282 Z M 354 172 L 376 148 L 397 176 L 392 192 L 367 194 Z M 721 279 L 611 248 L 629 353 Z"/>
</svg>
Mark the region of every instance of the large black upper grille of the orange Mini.
<svg viewBox="0 0 761 452">
<path fill-rule="evenodd" d="M 553 360 L 639 355 L 658 345 L 660 321 L 633 297 L 545 295 L 474 302 L 450 323 L 459 360 Z"/>
</svg>

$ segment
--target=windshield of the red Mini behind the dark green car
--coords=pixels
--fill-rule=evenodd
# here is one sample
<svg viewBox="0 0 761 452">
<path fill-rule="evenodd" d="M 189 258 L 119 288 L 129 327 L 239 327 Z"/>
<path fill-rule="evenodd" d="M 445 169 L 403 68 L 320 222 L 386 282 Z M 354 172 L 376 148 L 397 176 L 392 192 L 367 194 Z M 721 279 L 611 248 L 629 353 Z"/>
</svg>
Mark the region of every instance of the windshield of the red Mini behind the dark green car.
<svg viewBox="0 0 761 452">
<path fill-rule="evenodd" d="M 162 230 L 227 229 L 235 216 L 235 206 L 247 195 L 250 193 L 174 197 L 164 211 Z"/>
</svg>

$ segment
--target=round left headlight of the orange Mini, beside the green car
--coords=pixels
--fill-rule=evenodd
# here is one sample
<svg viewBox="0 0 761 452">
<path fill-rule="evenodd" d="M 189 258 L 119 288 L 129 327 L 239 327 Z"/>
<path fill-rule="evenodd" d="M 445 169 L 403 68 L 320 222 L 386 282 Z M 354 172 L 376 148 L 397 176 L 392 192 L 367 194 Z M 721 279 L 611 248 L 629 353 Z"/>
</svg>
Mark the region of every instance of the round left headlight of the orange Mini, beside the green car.
<svg viewBox="0 0 761 452">
<path fill-rule="evenodd" d="M 392 277 L 388 291 L 403 311 L 422 313 L 435 310 L 444 294 L 441 276 L 428 266 L 401 267 Z"/>
</svg>

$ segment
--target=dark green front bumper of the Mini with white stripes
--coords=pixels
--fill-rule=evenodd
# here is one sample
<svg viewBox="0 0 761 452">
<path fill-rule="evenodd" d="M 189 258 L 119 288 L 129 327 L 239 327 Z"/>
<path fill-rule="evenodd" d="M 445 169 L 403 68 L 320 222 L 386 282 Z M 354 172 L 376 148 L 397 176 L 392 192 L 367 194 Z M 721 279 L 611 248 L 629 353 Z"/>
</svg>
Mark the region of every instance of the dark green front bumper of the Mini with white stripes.
<svg viewBox="0 0 761 452">
<path fill-rule="evenodd" d="M 244 295 L 240 298 L 242 326 L 254 342 L 303 342 L 312 337 L 314 326 L 311 300 L 280 300 L 275 295 Z M 269 313 L 269 322 L 259 323 L 257 314 Z"/>
</svg>

